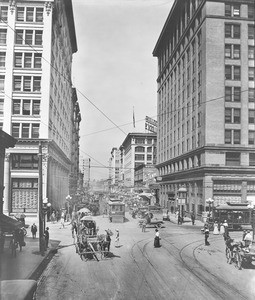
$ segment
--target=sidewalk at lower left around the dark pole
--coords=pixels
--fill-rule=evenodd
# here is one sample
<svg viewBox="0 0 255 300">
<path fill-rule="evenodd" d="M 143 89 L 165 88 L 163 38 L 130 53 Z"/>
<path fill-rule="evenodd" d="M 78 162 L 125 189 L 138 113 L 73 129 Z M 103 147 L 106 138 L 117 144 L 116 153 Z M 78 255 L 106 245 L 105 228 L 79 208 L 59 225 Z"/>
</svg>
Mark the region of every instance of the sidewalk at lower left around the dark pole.
<svg viewBox="0 0 255 300">
<path fill-rule="evenodd" d="M 31 224 L 34 222 L 36 223 L 36 220 L 30 220 L 28 225 L 31 226 Z M 16 250 L 16 257 L 12 257 L 11 255 L 9 249 L 9 240 L 7 239 L 5 241 L 4 252 L 0 254 L 0 280 L 29 279 L 36 272 L 36 270 L 40 268 L 41 264 L 45 265 L 45 262 L 49 261 L 54 255 L 53 253 L 55 253 L 60 241 L 52 240 L 50 237 L 50 248 L 47 249 L 44 256 L 42 256 L 39 251 L 38 232 L 37 238 L 33 239 L 31 237 L 30 226 L 27 228 L 27 236 L 25 237 L 26 246 L 22 247 L 21 252 L 19 248 Z M 48 223 L 47 226 L 53 227 L 48 225 Z"/>
</svg>

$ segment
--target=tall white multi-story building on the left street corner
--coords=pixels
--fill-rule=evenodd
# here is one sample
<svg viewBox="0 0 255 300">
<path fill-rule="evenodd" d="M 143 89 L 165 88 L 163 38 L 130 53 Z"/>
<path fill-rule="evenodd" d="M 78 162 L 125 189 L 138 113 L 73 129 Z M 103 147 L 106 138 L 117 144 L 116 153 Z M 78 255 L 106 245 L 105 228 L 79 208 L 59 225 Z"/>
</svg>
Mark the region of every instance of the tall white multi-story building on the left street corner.
<svg viewBox="0 0 255 300">
<path fill-rule="evenodd" d="M 72 1 L 4 0 L 0 10 L 0 123 L 18 140 L 6 151 L 3 211 L 38 212 L 39 144 L 43 200 L 61 209 L 78 170 Z"/>
</svg>

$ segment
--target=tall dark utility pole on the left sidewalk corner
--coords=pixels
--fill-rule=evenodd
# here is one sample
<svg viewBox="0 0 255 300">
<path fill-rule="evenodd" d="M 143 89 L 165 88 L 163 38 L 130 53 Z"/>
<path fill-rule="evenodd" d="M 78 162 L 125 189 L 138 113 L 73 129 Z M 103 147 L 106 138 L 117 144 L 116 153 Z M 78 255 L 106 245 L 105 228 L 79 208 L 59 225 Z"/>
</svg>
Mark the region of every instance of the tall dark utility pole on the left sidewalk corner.
<svg viewBox="0 0 255 300">
<path fill-rule="evenodd" d="M 38 153 L 38 201 L 39 201 L 39 248 L 40 252 L 44 252 L 43 243 L 43 197 L 42 197 L 42 144 L 39 142 L 39 153 Z"/>
</svg>

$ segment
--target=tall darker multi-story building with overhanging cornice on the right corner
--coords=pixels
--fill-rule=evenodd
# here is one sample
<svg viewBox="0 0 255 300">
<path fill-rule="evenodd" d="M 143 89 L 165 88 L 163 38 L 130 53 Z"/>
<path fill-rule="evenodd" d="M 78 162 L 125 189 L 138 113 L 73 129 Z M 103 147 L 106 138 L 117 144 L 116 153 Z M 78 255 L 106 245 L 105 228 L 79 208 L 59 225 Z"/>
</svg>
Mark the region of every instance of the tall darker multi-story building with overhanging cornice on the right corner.
<svg viewBox="0 0 255 300">
<path fill-rule="evenodd" d="M 172 6 L 153 51 L 163 206 L 181 187 L 198 215 L 255 199 L 254 17 L 253 0 Z"/>
</svg>

